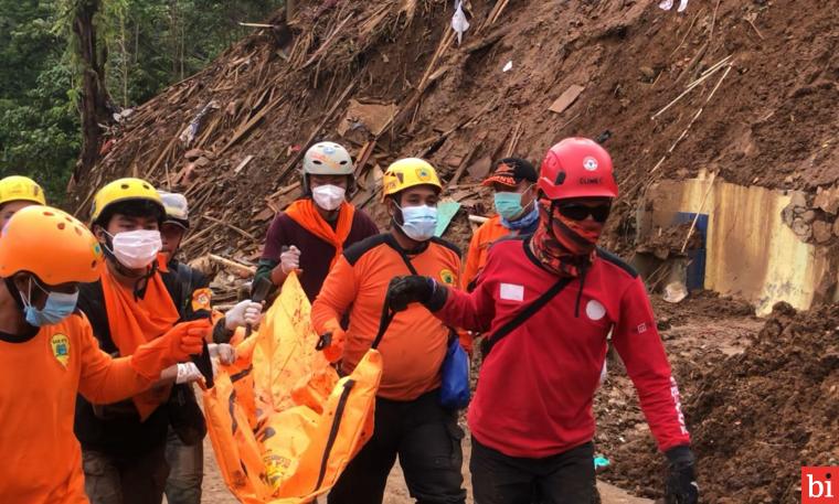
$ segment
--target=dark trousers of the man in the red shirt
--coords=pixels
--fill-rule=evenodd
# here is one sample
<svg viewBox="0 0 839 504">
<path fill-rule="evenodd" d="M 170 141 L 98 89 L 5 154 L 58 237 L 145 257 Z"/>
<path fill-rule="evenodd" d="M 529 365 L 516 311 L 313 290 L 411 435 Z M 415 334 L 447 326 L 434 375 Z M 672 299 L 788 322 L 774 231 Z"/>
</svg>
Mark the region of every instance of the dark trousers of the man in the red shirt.
<svg viewBox="0 0 839 504">
<path fill-rule="evenodd" d="M 472 437 L 469 470 L 475 503 L 597 503 L 593 458 L 591 442 L 544 459 L 524 459 L 492 450 Z"/>
</svg>

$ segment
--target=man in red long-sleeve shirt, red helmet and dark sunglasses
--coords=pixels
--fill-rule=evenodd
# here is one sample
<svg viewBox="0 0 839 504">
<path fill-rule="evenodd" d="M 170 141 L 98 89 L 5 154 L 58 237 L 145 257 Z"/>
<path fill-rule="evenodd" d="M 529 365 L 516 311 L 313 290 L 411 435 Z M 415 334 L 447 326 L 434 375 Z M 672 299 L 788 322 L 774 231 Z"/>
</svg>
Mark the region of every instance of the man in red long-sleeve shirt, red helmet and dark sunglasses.
<svg viewBox="0 0 839 504">
<path fill-rule="evenodd" d="M 470 294 L 420 276 L 389 290 L 395 310 L 420 301 L 447 324 L 489 335 L 468 416 L 475 500 L 527 504 L 535 487 L 545 503 L 594 502 L 592 401 L 612 331 L 669 461 L 667 502 L 695 503 L 690 436 L 644 282 L 596 247 L 617 197 L 612 159 L 592 140 L 563 140 L 542 162 L 538 186 L 537 232 L 496 243 Z"/>
</svg>

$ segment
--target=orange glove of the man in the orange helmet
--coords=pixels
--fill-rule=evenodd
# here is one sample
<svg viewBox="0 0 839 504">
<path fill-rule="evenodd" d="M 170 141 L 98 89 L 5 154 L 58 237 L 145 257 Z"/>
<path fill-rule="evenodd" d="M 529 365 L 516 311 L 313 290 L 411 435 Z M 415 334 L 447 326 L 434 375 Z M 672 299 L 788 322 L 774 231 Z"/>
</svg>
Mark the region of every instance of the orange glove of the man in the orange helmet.
<svg viewBox="0 0 839 504">
<path fill-rule="evenodd" d="M 212 325 L 206 319 L 177 324 L 162 336 L 138 346 L 131 355 L 131 367 L 138 375 L 156 380 L 167 367 L 201 354 L 210 331 Z"/>
</svg>

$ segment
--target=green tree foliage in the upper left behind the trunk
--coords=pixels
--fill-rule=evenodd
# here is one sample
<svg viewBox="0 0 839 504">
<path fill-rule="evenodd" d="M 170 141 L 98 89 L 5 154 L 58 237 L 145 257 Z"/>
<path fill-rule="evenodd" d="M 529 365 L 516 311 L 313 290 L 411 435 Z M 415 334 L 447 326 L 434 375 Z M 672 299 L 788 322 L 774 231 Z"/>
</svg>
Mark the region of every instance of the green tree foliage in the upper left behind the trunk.
<svg viewBox="0 0 839 504">
<path fill-rule="evenodd" d="M 109 108 L 132 107 L 201 69 L 282 0 L 97 0 Z M 82 146 L 79 47 L 91 0 L 0 0 L 0 176 L 38 180 L 60 202 Z"/>
</svg>

